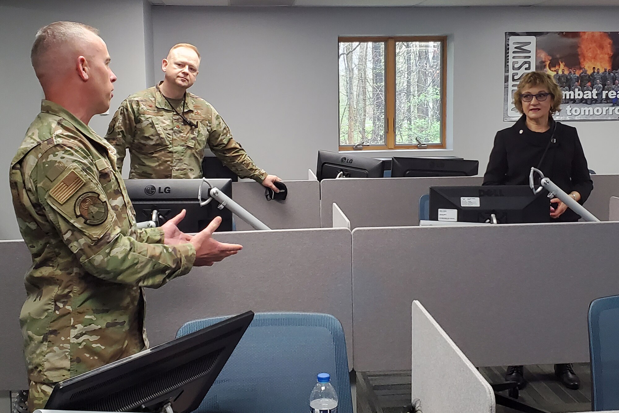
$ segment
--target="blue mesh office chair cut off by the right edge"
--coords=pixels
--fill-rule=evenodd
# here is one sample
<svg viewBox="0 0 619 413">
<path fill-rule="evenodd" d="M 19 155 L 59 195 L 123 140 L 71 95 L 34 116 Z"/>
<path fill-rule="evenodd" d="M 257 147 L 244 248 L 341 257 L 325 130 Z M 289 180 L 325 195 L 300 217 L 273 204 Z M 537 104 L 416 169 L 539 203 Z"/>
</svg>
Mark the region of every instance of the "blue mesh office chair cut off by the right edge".
<svg viewBox="0 0 619 413">
<path fill-rule="evenodd" d="M 619 295 L 591 302 L 589 353 L 592 410 L 619 409 Z"/>
</svg>

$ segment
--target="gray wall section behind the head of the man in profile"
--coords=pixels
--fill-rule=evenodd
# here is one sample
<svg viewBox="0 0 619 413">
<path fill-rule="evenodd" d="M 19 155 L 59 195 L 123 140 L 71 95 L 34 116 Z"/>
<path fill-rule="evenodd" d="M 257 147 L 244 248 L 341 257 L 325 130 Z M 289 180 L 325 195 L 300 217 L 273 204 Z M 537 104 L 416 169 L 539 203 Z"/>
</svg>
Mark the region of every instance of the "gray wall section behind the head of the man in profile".
<svg viewBox="0 0 619 413">
<path fill-rule="evenodd" d="M 40 110 L 43 91 L 30 64 L 30 48 L 40 27 L 74 20 L 97 27 L 107 43 L 111 67 L 118 76 L 111 102 L 113 115 L 120 102 L 146 85 L 142 0 L 20 0 L 0 2 L 0 239 L 21 238 L 9 190 L 9 164 L 25 131 Z M 150 66 L 150 63 L 149 63 Z M 150 69 L 150 67 L 149 67 Z M 111 115 L 97 115 L 90 126 L 105 134 Z"/>
</svg>

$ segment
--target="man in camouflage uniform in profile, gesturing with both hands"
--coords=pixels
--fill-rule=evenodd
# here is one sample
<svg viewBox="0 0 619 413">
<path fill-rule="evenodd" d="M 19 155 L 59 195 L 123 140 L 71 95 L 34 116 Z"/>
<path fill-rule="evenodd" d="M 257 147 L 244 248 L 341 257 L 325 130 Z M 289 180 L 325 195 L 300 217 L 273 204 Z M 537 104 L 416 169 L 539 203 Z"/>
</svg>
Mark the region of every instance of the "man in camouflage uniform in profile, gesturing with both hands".
<svg viewBox="0 0 619 413">
<path fill-rule="evenodd" d="M 148 346 L 143 287 L 158 288 L 193 265 L 234 254 L 205 254 L 203 238 L 217 242 L 207 229 L 191 237 L 169 223 L 136 228 L 116 151 L 87 125 L 109 107 L 116 81 L 96 33 L 72 22 L 37 33 L 32 64 L 50 100 L 41 103 L 9 172 L 17 223 L 32 254 L 20 313 L 30 411 L 45 407 L 55 383 Z"/>
</svg>

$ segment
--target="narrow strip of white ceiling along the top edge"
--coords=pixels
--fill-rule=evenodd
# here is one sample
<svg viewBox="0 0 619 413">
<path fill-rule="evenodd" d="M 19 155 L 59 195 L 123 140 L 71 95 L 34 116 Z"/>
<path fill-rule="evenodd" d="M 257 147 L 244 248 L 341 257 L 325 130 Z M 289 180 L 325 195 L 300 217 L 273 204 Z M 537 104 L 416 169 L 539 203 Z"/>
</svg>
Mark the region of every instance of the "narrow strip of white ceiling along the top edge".
<svg viewBox="0 0 619 413">
<path fill-rule="evenodd" d="M 166 6 L 619 6 L 619 0 L 150 0 Z"/>
</svg>

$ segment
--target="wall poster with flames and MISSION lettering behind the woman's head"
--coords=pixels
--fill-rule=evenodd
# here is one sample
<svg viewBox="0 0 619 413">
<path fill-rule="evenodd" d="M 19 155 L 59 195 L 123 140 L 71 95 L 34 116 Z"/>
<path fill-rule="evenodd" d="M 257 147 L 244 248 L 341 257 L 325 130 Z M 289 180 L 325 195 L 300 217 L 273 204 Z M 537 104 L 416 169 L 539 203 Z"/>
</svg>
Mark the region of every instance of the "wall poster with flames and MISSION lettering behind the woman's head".
<svg viewBox="0 0 619 413">
<path fill-rule="evenodd" d="M 561 87 L 556 120 L 619 119 L 618 32 L 506 32 L 503 120 L 517 120 L 514 91 L 530 71 Z"/>
</svg>

